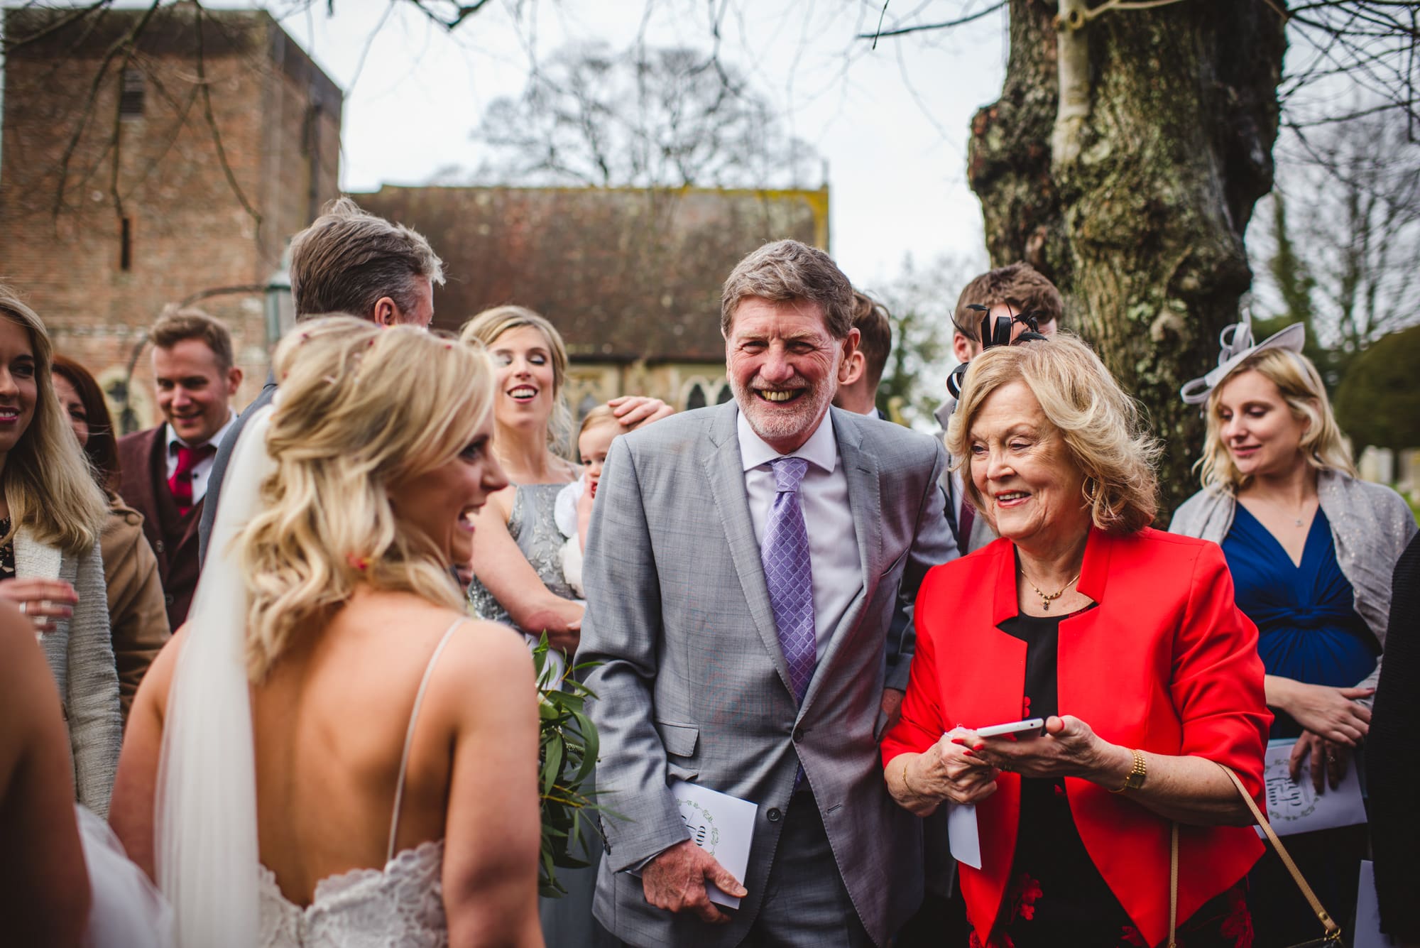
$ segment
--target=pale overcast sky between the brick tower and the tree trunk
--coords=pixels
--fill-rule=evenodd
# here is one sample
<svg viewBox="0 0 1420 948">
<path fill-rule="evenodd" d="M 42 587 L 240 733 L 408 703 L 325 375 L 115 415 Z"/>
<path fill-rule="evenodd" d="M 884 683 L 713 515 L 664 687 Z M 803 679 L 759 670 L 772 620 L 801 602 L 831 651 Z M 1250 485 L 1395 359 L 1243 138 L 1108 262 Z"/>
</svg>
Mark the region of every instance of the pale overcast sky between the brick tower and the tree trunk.
<svg viewBox="0 0 1420 948">
<path fill-rule="evenodd" d="M 361 192 L 476 167 L 470 132 L 483 109 L 517 94 L 530 64 L 565 43 L 623 48 L 645 30 L 649 45 L 709 50 L 709 9 L 721 1 L 493 0 L 452 34 L 398 0 L 335 0 L 334 16 L 325 3 L 283 16 L 290 6 L 278 0 L 273 13 L 345 91 L 341 183 Z M 990 4 L 920 6 L 930 21 Z M 853 35 L 875 28 L 879 9 L 728 0 L 720 28 L 721 58 L 826 160 L 832 253 L 868 288 L 895 275 L 907 253 L 919 268 L 941 254 L 985 263 L 966 140 L 973 112 L 998 98 L 1007 54 L 1004 11 L 872 50 Z"/>
</svg>

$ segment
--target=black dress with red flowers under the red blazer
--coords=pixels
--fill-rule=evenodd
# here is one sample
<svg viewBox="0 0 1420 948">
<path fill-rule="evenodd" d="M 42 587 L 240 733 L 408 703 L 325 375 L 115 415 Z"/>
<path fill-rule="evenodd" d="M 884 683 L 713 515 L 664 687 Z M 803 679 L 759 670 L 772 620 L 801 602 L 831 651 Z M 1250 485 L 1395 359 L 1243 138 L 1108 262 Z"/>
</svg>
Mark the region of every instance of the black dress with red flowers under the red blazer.
<svg viewBox="0 0 1420 948">
<path fill-rule="evenodd" d="M 1022 718 L 1059 714 L 1055 673 L 1062 619 L 1020 614 L 1001 623 L 1001 632 L 1027 646 Z M 1238 883 L 1204 903 L 1179 925 L 1180 948 L 1251 948 L 1245 891 L 1245 883 Z M 1059 945 L 1147 948 L 1085 850 L 1064 781 L 1022 778 L 1011 881 L 988 948 Z M 971 932 L 970 948 L 987 947 Z"/>
</svg>

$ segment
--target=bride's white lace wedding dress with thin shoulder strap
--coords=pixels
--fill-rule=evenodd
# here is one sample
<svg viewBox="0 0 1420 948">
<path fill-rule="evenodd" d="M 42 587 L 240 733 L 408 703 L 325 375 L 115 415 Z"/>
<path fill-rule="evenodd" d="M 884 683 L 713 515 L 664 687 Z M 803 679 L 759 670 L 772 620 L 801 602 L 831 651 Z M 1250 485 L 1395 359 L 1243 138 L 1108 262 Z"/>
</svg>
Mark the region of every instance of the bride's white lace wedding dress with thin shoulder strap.
<svg viewBox="0 0 1420 948">
<path fill-rule="evenodd" d="M 405 796 L 405 768 L 409 765 L 419 705 L 425 700 L 425 688 L 439 653 L 462 622 L 459 619 L 449 626 L 439 640 L 415 694 L 409 729 L 405 732 L 405 752 L 399 759 L 385 869 L 352 869 L 339 876 L 328 876 L 315 884 L 311 904 L 301 907 L 281 894 L 271 870 L 258 866 L 260 948 L 443 948 L 449 944 L 442 884 L 443 840 L 429 840 L 396 854 L 395 836 L 399 832 L 399 803 Z"/>
</svg>

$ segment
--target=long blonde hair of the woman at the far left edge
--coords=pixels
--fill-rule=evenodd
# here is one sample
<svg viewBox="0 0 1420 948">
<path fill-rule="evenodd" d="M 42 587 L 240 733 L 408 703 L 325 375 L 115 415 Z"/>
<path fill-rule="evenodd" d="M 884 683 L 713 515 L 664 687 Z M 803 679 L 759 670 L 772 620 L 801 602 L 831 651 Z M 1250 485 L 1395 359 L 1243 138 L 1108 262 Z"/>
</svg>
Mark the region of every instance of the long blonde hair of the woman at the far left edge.
<svg viewBox="0 0 1420 948">
<path fill-rule="evenodd" d="M 54 395 L 54 343 L 48 329 L 4 284 L 0 284 L 0 316 L 28 334 L 37 389 L 30 427 L 4 458 L 0 474 L 0 490 L 10 507 L 10 531 L 0 536 L 0 544 L 10 542 L 23 527 L 41 544 L 78 556 L 98 542 L 108 500 Z"/>
</svg>

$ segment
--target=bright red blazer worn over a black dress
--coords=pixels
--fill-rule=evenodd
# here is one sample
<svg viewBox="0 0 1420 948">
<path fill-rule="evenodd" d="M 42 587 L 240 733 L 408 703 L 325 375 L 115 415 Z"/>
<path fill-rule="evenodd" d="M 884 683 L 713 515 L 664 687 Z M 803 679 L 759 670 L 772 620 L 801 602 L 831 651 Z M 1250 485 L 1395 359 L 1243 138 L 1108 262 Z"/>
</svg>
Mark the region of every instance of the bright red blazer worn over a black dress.
<svg viewBox="0 0 1420 948">
<path fill-rule="evenodd" d="M 926 751 L 957 724 L 1021 718 L 1025 643 L 997 624 L 1017 614 L 1015 548 L 1005 539 L 936 566 L 917 595 L 917 653 L 902 721 L 883 739 L 886 765 Z M 1154 754 L 1227 764 L 1262 800 L 1262 752 L 1272 721 L 1262 694 L 1257 627 L 1233 602 L 1223 551 L 1143 529 L 1091 531 L 1079 590 L 1095 609 L 1061 623 L 1061 714 L 1103 739 Z M 1015 853 L 1021 778 L 1003 773 L 977 805 L 981 869 L 958 866 L 967 918 L 987 944 Z M 1140 934 L 1169 932 L 1169 820 L 1127 793 L 1065 779 L 1075 827 Z M 1237 826 L 1181 826 L 1179 920 L 1241 878 L 1262 844 Z"/>
</svg>

